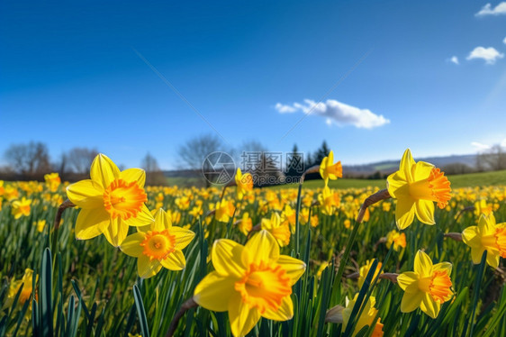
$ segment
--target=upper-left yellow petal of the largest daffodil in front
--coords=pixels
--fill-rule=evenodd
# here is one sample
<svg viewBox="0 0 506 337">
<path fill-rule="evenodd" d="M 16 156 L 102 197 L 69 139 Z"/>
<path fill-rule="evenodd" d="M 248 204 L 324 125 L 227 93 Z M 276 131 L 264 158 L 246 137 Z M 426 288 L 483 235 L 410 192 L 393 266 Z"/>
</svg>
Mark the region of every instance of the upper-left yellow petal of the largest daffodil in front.
<svg viewBox="0 0 506 337">
<path fill-rule="evenodd" d="M 248 251 L 235 241 L 214 241 L 211 252 L 212 266 L 221 276 L 242 278 L 248 266 Z"/>
</svg>

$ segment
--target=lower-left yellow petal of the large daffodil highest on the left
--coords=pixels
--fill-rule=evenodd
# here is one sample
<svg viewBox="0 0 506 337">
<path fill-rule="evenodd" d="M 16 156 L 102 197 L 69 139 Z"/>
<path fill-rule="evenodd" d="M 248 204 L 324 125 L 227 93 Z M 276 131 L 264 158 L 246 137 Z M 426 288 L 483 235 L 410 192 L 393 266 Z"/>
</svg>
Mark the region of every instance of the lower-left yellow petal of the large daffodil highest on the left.
<svg viewBox="0 0 506 337">
<path fill-rule="evenodd" d="M 82 209 L 76 220 L 76 239 L 88 240 L 102 234 L 111 223 L 104 209 Z"/>
</svg>

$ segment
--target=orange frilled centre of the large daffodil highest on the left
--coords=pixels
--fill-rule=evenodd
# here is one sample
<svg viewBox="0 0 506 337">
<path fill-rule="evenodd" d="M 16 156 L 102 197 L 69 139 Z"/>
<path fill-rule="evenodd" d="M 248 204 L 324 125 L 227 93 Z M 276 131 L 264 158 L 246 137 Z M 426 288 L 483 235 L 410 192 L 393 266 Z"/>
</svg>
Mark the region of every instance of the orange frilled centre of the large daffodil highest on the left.
<svg viewBox="0 0 506 337">
<path fill-rule="evenodd" d="M 136 217 L 142 204 L 148 201 L 144 189 L 136 181 L 127 183 L 123 179 L 115 179 L 104 192 L 104 207 L 113 219 L 121 216 L 122 220 Z"/>
</svg>

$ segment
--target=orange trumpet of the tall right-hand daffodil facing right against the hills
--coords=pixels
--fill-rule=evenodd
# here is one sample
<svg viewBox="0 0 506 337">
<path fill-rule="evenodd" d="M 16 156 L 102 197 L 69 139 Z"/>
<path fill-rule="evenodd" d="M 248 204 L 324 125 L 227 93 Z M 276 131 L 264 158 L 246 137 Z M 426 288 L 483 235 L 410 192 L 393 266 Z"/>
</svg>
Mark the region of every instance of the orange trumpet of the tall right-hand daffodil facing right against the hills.
<svg viewBox="0 0 506 337">
<path fill-rule="evenodd" d="M 439 168 L 432 168 L 429 178 L 415 181 L 409 187 L 413 198 L 435 201 L 441 209 L 448 205 L 451 198 L 450 182 Z"/>
</svg>

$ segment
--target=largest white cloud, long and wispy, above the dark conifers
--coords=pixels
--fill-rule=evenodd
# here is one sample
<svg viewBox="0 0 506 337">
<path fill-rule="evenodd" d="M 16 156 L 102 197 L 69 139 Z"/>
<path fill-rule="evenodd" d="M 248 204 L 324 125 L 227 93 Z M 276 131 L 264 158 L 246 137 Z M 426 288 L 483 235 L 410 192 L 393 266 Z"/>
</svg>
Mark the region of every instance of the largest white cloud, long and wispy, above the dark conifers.
<svg viewBox="0 0 506 337">
<path fill-rule="evenodd" d="M 304 114 L 315 114 L 325 117 L 325 123 L 337 125 L 351 124 L 357 128 L 373 129 L 378 126 L 390 123 L 390 120 L 383 115 L 373 114 L 368 109 L 360 109 L 355 106 L 345 105 L 334 99 L 328 99 L 327 102 L 316 103 L 311 99 L 304 99 L 304 103 L 294 103 L 293 105 L 276 104 L 276 110 L 285 114 L 287 112 L 301 111 Z"/>
</svg>

